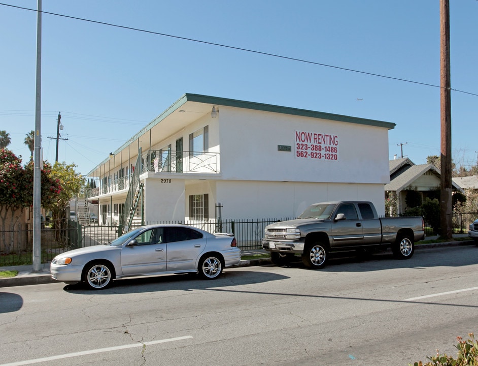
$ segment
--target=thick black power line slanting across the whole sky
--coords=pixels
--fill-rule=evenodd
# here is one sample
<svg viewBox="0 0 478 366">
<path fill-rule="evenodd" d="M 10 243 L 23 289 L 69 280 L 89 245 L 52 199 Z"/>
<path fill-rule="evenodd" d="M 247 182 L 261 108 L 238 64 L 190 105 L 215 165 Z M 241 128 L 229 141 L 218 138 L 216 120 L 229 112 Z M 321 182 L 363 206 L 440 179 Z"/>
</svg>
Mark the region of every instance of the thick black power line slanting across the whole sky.
<svg viewBox="0 0 478 366">
<path fill-rule="evenodd" d="M 12 7 L 12 8 L 17 8 L 17 9 L 22 9 L 22 10 L 29 10 L 29 11 L 33 11 L 33 12 L 38 12 L 38 10 L 36 10 L 36 9 L 24 8 L 24 7 L 20 7 L 20 6 L 16 6 L 16 5 L 11 5 L 11 4 L 0 3 L 0 5 Z M 196 39 L 188 38 L 188 37 L 173 36 L 173 35 L 169 35 L 169 34 L 166 34 L 166 33 L 148 31 L 147 29 L 134 28 L 134 27 L 130 27 L 130 26 L 118 25 L 118 24 L 107 23 L 107 22 L 102 22 L 102 21 L 98 21 L 98 20 L 86 19 L 86 18 L 79 18 L 79 17 L 74 17 L 74 16 L 71 16 L 71 15 L 63 15 L 63 14 L 58 14 L 58 13 L 46 12 L 46 11 L 41 11 L 41 12 L 43 14 L 55 15 L 55 16 L 59 16 L 59 17 L 63 17 L 63 18 L 81 20 L 81 21 L 86 21 L 86 22 L 95 23 L 95 24 L 103 24 L 103 25 L 108 25 L 108 26 L 112 26 L 112 27 L 116 27 L 116 28 L 128 29 L 130 31 L 143 32 L 143 33 L 153 34 L 153 35 L 157 35 L 157 36 L 176 38 L 176 39 L 181 39 L 181 40 L 185 40 L 185 41 L 191 41 L 191 42 L 197 42 L 197 43 L 202 43 L 202 44 L 208 44 L 208 45 L 212 45 L 212 46 L 235 49 L 235 50 L 238 50 L 238 51 L 252 52 L 252 53 L 262 54 L 262 55 L 265 55 L 265 56 L 278 57 L 278 58 L 288 59 L 288 60 L 297 61 L 297 62 L 306 63 L 306 64 L 324 66 L 324 67 L 333 68 L 333 69 L 337 69 L 337 70 L 350 71 L 350 72 L 355 72 L 355 73 L 370 75 L 370 76 L 377 76 L 377 77 L 381 77 L 381 78 L 385 78 L 385 79 L 392 79 L 392 80 L 403 81 L 403 82 L 408 82 L 408 83 L 413 83 L 413 84 L 419 84 L 419 85 L 431 86 L 431 87 L 436 87 L 436 88 L 442 88 L 440 85 L 434 85 L 434 84 L 429 84 L 429 83 L 424 83 L 424 82 L 419 82 L 419 81 L 414 81 L 414 80 L 397 78 L 397 77 L 393 77 L 393 76 L 375 74 L 375 73 L 366 72 L 366 71 L 360 71 L 360 70 L 349 69 L 349 68 L 344 68 L 344 67 L 339 67 L 339 66 L 334 66 L 334 65 L 328 65 L 328 64 L 323 64 L 323 63 L 319 63 L 319 62 L 314 62 L 314 61 L 310 61 L 310 60 L 301 59 L 301 58 L 278 55 L 278 54 L 275 54 L 275 53 L 262 52 L 262 51 L 248 49 L 248 48 L 229 46 L 229 45 L 225 45 L 225 44 L 221 44 L 221 43 L 215 43 L 215 42 L 209 42 L 209 41 L 201 41 L 201 40 L 196 40 Z M 468 95 L 478 97 L 478 94 L 475 94 L 475 93 L 465 92 L 464 90 L 453 89 L 451 87 L 449 89 L 453 90 L 454 92 L 464 93 L 464 94 L 468 94 Z"/>
</svg>

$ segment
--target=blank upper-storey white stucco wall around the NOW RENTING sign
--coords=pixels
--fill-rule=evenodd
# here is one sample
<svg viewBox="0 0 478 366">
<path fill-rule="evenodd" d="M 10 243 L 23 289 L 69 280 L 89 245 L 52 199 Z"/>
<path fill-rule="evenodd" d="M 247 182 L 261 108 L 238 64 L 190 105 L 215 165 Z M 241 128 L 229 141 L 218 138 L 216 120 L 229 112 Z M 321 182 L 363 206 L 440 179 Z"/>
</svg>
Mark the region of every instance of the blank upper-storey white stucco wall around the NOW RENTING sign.
<svg viewBox="0 0 478 366">
<path fill-rule="evenodd" d="M 220 118 L 223 179 L 390 181 L 386 128 L 231 107 L 222 107 Z M 334 136 L 337 160 L 297 157 L 297 131 Z M 291 146 L 291 151 L 278 151 L 278 145 Z"/>
</svg>

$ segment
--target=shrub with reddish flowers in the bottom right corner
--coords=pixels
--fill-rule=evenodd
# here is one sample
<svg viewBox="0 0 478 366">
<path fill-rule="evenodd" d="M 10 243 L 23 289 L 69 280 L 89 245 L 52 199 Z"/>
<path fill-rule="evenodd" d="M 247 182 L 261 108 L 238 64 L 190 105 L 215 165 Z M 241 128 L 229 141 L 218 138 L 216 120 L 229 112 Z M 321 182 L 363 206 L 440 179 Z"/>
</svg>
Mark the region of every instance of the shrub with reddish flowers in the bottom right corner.
<svg viewBox="0 0 478 366">
<path fill-rule="evenodd" d="M 440 355 L 436 350 L 436 355 L 427 357 L 430 362 L 422 363 L 422 361 L 408 363 L 408 366 L 478 366 L 478 342 L 474 339 L 473 333 L 469 333 L 469 339 L 464 341 L 461 337 L 457 337 L 458 349 L 457 359 L 444 353 Z"/>
</svg>

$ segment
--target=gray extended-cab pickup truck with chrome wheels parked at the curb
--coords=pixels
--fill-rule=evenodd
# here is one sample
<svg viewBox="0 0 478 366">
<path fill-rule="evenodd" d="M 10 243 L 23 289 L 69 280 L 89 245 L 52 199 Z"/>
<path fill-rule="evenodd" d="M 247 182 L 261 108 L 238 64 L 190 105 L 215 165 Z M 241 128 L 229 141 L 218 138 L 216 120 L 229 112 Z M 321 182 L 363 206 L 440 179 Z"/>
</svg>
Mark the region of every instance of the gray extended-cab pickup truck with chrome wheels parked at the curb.
<svg viewBox="0 0 478 366">
<path fill-rule="evenodd" d="M 322 202 L 297 219 L 267 225 L 262 248 L 272 262 L 287 265 L 300 254 L 305 266 L 323 268 L 329 252 L 390 247 L 398 259 L 413 256 L 415 241 L 425 238 L 421 217 L 379 218 L 366 201 Z"/>
</svg>

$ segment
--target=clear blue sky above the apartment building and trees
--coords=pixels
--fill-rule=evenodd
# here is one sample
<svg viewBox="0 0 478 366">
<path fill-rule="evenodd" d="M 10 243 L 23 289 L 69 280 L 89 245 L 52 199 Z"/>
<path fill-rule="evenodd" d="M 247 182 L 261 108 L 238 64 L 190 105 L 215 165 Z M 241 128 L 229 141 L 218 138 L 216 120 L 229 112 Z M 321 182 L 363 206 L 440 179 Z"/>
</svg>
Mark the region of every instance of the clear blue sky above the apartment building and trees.
<svg viewBox="0 0 478 366">
<path fill-rule="evenodd" d="M 37 8 L 36 0 L 0 3 Z M 451 85 L 478 94 L 478 1 L 451 0 Z M 439 85 L 439 0 L 43 0 L 43 11 Z M 35 129 L 35 12 L 0 5 L 0 130 Z M 43 15 L 42 146 L 86 174 L 184 93 L 395 123 L 389 159 L 440 154 L 439 88 Z M 475 165 L 478 96 L 452 92 L 452 150 Z"/>
</svg>

